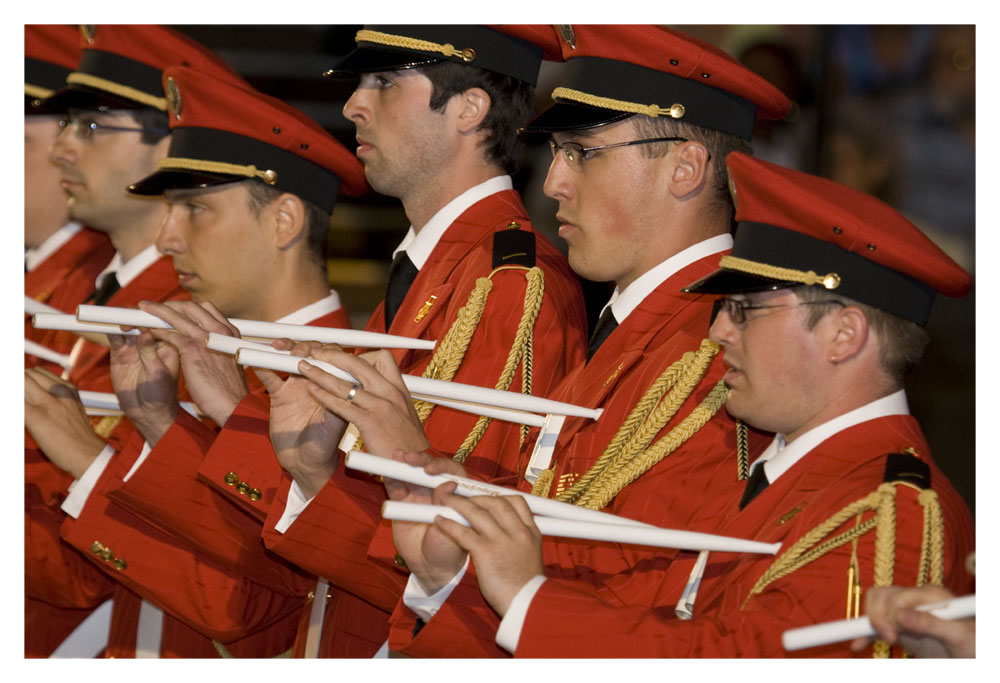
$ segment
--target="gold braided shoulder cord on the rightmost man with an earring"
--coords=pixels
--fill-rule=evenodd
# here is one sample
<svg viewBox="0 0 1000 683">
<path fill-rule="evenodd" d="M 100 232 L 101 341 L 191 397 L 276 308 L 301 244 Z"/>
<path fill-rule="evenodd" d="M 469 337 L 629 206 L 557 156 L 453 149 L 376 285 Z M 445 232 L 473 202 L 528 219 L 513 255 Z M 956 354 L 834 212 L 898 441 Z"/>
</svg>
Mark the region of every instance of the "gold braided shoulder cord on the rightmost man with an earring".
<svg viewBox="0 0 1000 683">
<path fill-rule="evenodd" d="M 920 491 L 917 501 L 924 510 L 923 541 L 920 548 L 920 566 L 917 568 L 917 585 L 930 583 L 940 586 L 944 580 L 944 522 L 941 518 L 941 505 L 937 493 L 932 489 L 919 489 L 909 482 L 895 481 L 881 484 L 878 489 L 864 498 L 851 503 L 822 524 L 803 535 L 788 550 L 775 558 L 771 566 L 761 575 L 750 593 L 743 600 L 740 609 L 755 595 L 764 592 L 771 583 L 788 576 L 792 572 L 817 560 L 841 545 L 857 541 L 861 536 L 875 529 L 875 566 L 872 584 L 889 586 L 893 582 L 893 568 L 896 563 L 896 489 L 899 486 L 909 486 Z M 862 515 L 874 512 L 874 516 L 865 521 Z M 827 539 L 833 531 L 852 517 L 856 518 L 851 529 Z M 827 539 L 827 540 L 824 540 Z M 848 613 L 855 613 L 860 608 L 860 577 L 857 575 L 857 562 L 852 553 L 848 562 Z M 873 656 L 886 658 L 889 656 L 889 644 L 877 641 Z"/>
</svg>

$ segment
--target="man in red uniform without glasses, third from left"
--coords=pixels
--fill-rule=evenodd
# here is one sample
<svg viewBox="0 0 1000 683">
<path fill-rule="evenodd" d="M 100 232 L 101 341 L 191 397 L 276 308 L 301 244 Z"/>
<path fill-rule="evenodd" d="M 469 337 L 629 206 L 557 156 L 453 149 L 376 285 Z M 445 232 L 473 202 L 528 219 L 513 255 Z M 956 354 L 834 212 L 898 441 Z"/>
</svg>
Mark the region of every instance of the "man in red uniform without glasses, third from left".
<svg viewBox="0 0 1000 683">
<path fill-rule="evenodd" d="M 282 596 L 301 607 L 315 579 L 308 581 L 303 572 L 267 555 L 260 522 L 198 479 L 205 454 L 219 441 L 234 449 L 234 461 L 247 463 L 244 472 L 258 468 L 252 485 L 231 480 L 245 498 L 255 501 L 273 492 L 281 476 L 266 421 L 260 428 L 235 412 L 237 404 L 249 403 L 266 415 L 266 396 L 255 382 L 248 392 L 232 357 L 208 351 L 204 342 L 213 331 L 239 336 L 224 316 L 348 326 L 326 279 L 323 247 L 338 187 L 358 194 L 366 186 L 360 162 L 283 102 L 183 67 L 166 70 L 164 82 L 173 93 L 170 151 L 161 170 L 130 191 L 166 197 L 170 213 L 157 244 L 174 258 L 200 306 L 143 304 L 174 329 L 113 343 L 112 379 L 137 434 L 98 482 L 103 502 L 94 507 L 88 499 L 64 535 L 84 550 L 95 535 L 118 548 L 135 536 L 116 523 L 127 514 L 120 506 L 169 532 L 196 561 L 179 564 L 164 578 L 156 559 L 159 539 L 146 529 L 145 537 L 132 541 L 135 556 L 127 577 L 116 576 L 219 638 L 223 631 L 211 610 L 228 616 L 231 629 L 249 630 L 252 624 L 241 624 L 240 618 L 273 616 L 268 610 L 282 609 Z M 178 363 L 192 399 L 223 425 L 221 431 L 178 410 L 176 379 L 171 380 Z M 222 567 L 231 583 L 199 591 L 199 599 L 192 600 L 191 588 L 204 582 L 206 567 Z M 206 616 L 199 622 L 201 614 Z M 290 626 L 289 640 L 295 623 Z"/>
</svg>

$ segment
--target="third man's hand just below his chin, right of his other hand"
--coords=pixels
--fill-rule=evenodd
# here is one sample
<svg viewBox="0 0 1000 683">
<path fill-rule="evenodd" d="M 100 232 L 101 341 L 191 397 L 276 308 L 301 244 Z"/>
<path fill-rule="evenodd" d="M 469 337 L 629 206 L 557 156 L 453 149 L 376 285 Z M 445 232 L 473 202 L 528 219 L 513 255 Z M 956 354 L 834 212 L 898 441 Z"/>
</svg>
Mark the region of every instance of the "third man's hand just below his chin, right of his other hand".
<svg viewBox="0 0 1000 683">
<path fill-rule="evenodd" d="M 143 301 L 139 308 L 173 328 L 150 332 L 177 349 L 191 400 L 217 425 L 224 425 L 248 393 L 246 375 L 232 356 L 211 351 L 205 343 L 210 332 L 239 337 L 239 330 L 208 301 Z"/>
</svg>

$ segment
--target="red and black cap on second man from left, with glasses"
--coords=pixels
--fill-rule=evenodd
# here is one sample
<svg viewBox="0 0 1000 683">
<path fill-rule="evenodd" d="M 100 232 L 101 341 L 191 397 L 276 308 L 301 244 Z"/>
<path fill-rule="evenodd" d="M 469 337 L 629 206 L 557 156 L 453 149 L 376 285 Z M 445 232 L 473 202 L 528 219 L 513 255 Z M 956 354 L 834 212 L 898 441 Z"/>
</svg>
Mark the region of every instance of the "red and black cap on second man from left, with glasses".
<svg viewBox="0 0 1000 683">
<path fill-rule="evenodd" d="M 244 83 L 207 48 L 163 26 L 83 25 L 79 34 L 83 50 L 79 66 L 66 77 L 66 87 L 43 103 L 49 111 L 151 108 L 165 112 L 163 70 L 174 65 Z"/>
</svg>

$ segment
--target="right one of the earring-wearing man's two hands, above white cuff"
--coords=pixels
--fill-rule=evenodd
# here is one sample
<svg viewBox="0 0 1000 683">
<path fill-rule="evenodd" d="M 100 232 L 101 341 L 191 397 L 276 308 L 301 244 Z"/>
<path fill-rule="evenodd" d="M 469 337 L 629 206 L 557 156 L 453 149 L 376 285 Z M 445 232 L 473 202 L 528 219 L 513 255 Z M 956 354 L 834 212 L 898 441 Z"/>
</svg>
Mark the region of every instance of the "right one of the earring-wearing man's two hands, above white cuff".
<svg viewBox="0 0 1000 683">
<path fill-rule="evenodd" d="M 439 489 L 443 487 L 438 487 Z M 542 534 L 520 496 L 438 497 L 472 525 L 438 517 L 434 526 L 472 556 L 483 597 L 503 617 L 518 591 L 544 573 Z"/>
</svg>

